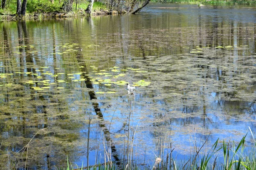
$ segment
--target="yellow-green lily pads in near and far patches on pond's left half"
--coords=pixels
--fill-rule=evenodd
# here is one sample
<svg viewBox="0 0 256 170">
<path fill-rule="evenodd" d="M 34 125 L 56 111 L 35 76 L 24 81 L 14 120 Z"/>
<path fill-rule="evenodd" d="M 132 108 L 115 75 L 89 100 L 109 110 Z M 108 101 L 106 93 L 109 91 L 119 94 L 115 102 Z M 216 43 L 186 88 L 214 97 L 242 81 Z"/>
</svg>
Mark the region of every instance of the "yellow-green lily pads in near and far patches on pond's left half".
<svg viewBox="0 0 256 170">
<path fill-rule="evenodd" d="M 54 45 L 55 53 L 51 54 L 67 54 L 73 51 L 78 51 L 80 47 L 78 47 L 78 43 L 65 43 L 61 45 Z M 99 45 L 87 45 L 86 48 L 93 48 Z M 28 53 L 34 53 L 38 51 L 31 51 L 31 48 L 35 48 L 34 45 L 20 45 L 16 48 L 22 48 L 24 51 Z M 20 54 L 20 51 L 15 51 L 14 53 Z M 79 66 L 79 68 L 84 68 L 84 66 Z M 63 83 L 71 83 L 71 82 L 83 82 L 91 81 L 93 85 L 104 85 L 105 87 L 116 87 L 116 86 L 124 86 L 129 83 L 125 81 L 126 73 L 143 73 L 147 72 L 145 70 L 141 70 L 140 68 L 119 68 L 117 66 L 108 68 L 106 70 L 99 69 L 98 67 L 91 65 L 90 66 L 90 74 L 86 72 L 75 72 L 75 73 L 61 73 L 58 71 L 61 68 L 55 68 L 56 71 L 52 72 L 51 67 L 39 67 L 34 68 L 35 72 L 15 72 L 14 74 L 0 74 L 0 79 L 8 80 L 11 77 L 20 76 L 20 74 L 24 74 L 26 79 L 20 80 L 21 83 L 29 85 L 29 88 L 35 91 L 46 91 L 47 89 L 55 88 L 55 89 L 64 89 L 65 85 Z M 83 75 L 82 75 L 83 74 Z M 62 76 L 63 75 L 63 76 Z M 8 77 L 11 76 L 11 77 Z M 53 77 L 59 77 L 58 80 L 55 80 Z M 13 83 L 7 83 L 6 80 L 2 82 L 6 82 L 6 84 L 2 84 L 0 86 L 4 87 L 12 87 Z M 58 86 L 56 86 L 56 85 Z M 150 82 L 146 82 L 145 80 L 140 80 L 138 82 L 132 83 L 134 86 L 147 86 Z M 61 87 L 59 87 L 61 86 Z M 103 87 L 104 87 L 103 86 Z M 107 88 L 109 89 L 109 88 Z M 106 90 L 106 89 L 105 89 Z M 113 90 L 113 89 L 112 89 Z M 107 91 L 101 92 L 98 91 L 96 94 L 111 94 L 115 93 L 115 91 Z"/>
</svg>

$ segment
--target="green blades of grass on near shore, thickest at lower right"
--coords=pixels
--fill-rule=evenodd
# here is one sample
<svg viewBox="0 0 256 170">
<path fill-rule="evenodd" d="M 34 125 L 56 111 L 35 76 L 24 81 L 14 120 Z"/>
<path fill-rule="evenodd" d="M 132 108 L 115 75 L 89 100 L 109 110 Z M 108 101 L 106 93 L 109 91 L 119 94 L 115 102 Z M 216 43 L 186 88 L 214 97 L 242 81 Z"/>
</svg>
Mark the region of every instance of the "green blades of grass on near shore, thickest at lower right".
<svg viewBox="0 0 256 170">
<path fill-rule="evenodd" d="M 249 127 L 250 129 L 250 127 Z M 252 134 L 252 133 L 251 133 Z M 151 169 L 151 170 L 256 170 L 256 142 L 253 137 L 253 145 L 251 148 L 245 151 L 245 138 L 247 135 L 242 137 L 241 141 L 237 144 L 235 142 L 220 142 L 219 139 L 215 141 L 211 149 L 202 154 L 202 150 L 206 147 L 209 135 L 206 141 L 201 145 L 196 144 L 196 141 L 192 140 L 192 152 L 186 160 L 177 160 L 172 152 L 174 149 L 162 148 L 165 146 L 166 136 L 161 136 L 159 141 L 160 152 L 156 155 L 156 159 L 152 167 L 139 167 L 131 162 L 136 160 L 129 160 L 123 165 L 104 166 L 99 164 L 90 166 L 90 170 L 139 170 L 139 169 Z M 253 134 L 252 134 L 253 136 Z M 132 147 L 132 146 L 130 146 Z M 163 150 L 168 149 L 169 152 L 164 154 Z M 131 149 L 130 149 L 131 150 Z M 129 153 L 130 154 L 130 153 Z M 121 156 L 122 157 L 122 156 Z M 127 156 L 132 158 L 131 155 Z M 127 160 L 128 161 L 128 160 Z M 129 165 L 128 165 L 129 163 Z M 69 164 L 69 163 L 67 163 Z M 71 164 L 70 164 L 71 165 Z M 128 165 L 128 166 L 127 166 Z M 72 167 L 72 165 L 71 165 Z M 118 167 L 118 168 L 116 168 Z M 76 169 L 82 169 L 77 167 Z M 70 169 L 69 165 L 67 169 Z M 76 170 L 71 168 L 72 170 Z"/>
</svg>

